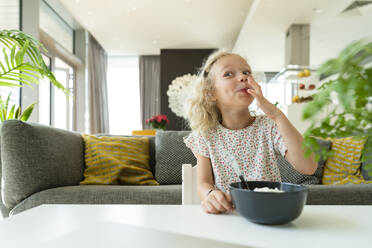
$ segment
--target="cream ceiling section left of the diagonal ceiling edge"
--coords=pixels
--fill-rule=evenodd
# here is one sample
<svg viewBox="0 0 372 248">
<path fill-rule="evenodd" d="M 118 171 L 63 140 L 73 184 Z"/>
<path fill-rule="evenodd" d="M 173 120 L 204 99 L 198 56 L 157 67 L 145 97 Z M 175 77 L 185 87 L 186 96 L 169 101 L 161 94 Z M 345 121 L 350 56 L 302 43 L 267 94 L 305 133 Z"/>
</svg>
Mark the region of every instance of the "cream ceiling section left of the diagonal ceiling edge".
<svg viewBox="0 0 372 248">
<path fill-rule="evenodd" d="M 109 55 L 232 49 L 253 0 L 60 0 Z"/>
</svg>

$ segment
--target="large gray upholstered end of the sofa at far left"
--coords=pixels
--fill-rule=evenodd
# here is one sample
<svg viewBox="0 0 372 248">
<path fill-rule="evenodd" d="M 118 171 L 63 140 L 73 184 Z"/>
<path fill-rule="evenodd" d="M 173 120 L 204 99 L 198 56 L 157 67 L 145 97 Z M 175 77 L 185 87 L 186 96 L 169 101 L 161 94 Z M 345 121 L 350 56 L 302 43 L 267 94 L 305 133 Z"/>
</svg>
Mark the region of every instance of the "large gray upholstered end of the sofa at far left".
<svg viewBox="0 0 372 248">
<path fill-rule="evenodd" d="M 83 178 L 83 140 L 78 133 L 8 120 L 1 125 L 3 199 L 11 209 L 50 188 Z"/>
</svg>

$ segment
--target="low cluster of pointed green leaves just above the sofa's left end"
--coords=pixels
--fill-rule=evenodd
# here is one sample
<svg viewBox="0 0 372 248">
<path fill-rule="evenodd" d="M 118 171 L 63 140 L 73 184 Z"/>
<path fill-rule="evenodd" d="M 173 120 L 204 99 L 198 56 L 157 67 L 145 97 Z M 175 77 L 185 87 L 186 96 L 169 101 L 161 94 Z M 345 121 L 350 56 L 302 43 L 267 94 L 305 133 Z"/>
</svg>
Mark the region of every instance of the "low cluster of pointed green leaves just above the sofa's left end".
<svg viewBox="0 0 372 248">
<path fill-rule="evenodd" d="M 0 96 L 0 123 L 5 120 L 11 120 L 11 119 L 27 121 L 30 118 L 32 111 L 34 110 L 36 103 L 33 103 L 30 106 L 28 106 L 25 109 L 25 111 L 23 111 L 23 113 L 22 113 L 21 107 L 18 107 L 17 110 L 14 112 L 16 108 L 15 104 L 9 110 L 10 96 L 11 96 L 11 93 L 9 93 L 5 102 L 1 99 L 1 96 Z"/>
</svg>

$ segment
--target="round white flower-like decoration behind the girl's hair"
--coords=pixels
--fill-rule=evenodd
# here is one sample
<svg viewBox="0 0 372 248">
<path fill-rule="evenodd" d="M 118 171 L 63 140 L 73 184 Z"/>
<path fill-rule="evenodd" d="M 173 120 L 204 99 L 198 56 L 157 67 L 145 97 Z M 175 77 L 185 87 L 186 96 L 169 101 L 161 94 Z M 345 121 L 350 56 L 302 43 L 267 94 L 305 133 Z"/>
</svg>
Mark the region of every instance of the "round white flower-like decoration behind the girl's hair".
<svg viewBox="0 0 372 248">
<path fill-rule="evenodd" d="M 178 117 L 186 117 L 184 105 L 191 92 L 191 82 L 196 80 L 196 75 L 186 74 L 175 78 L 168 87 L 168 103 L 169 108 Z"/>
</svg>

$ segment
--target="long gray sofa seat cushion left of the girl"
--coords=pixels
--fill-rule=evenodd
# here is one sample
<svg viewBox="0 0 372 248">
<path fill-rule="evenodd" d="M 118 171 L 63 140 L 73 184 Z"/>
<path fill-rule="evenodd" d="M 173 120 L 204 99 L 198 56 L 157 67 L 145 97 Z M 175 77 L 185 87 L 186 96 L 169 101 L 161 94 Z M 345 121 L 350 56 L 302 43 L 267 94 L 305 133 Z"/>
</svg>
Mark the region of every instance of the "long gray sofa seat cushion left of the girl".
<svg viewBox="0 0 372 248">
<path fill-rule="evenodd" d="M 41 204 L 181 204 L 181 185 L 79 185 L 38 192 L 15 206 L 10 215 Z"/>
</svg>

